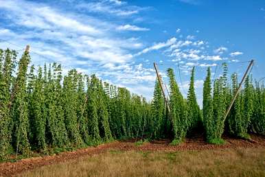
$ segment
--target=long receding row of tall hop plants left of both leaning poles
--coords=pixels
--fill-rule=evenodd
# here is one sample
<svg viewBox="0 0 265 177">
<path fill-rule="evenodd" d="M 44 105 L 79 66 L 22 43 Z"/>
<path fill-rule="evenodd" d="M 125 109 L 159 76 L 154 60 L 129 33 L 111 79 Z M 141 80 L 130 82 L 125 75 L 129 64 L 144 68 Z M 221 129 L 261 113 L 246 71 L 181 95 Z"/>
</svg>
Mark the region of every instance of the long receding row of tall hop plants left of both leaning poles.
<svg viewBox="0 0 265 177">
<path fill-rule="evenodd" d="M 0 157 L 47 153 L 143 136 L 146 99 L 60 64 L 34 67 L 25 51 L 0 49 Z"/>
</svg>

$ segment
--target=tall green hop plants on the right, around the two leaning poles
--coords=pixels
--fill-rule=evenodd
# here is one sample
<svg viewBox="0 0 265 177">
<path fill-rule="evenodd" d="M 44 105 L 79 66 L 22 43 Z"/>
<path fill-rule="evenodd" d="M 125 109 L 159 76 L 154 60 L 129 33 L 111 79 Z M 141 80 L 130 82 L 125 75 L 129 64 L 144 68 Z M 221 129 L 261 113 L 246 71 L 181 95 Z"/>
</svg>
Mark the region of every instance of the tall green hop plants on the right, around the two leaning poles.
<svg viewBox="0 0 265 177">
<path fill-rule="evenodd" d="M 222 134 L 225 132 L 233 137 L 249 139 L 249 132 L 265 134 L 265 88 L 259 82 L 253 84 L 249 74 L 244 81 L 240 94 L 235 99 L 227 119 L 224 115 L 231 104 L 231 99 L 238 89 L 238 75 L 233 73 L 228 78 L 227 64 L 222 64 L 223 73 L 214 82 L 211 80 L 211 69 L 207 69 L 207 76 L 203 86 L 203 109 L 200 110 L 196 101 L 194 89 L 195 67 L 189 83 L 187 99 L 183 98 L 175 80 L 173 69 L 168 69 L 170 84 L 170 113 L 165 111 L 161 88 L 157 80 L 152 100 L 153 121 L 157 128 L 154 134 L 165 137 L 168 130 L 173 138 L 172 144 L 178 144 L 194 131 L 205 135 L 209 143 L 222 144 Z M 161 118 L 163 117 L 163 118 Z M 165 123 L 165 120 L 169 120 Z M 170 129 L 169 129 L 170 128 Z M 203 130 L 203 131 L 201 131 Z M 157 138 L 154 136 L 154 138 Z"/>
</svg>

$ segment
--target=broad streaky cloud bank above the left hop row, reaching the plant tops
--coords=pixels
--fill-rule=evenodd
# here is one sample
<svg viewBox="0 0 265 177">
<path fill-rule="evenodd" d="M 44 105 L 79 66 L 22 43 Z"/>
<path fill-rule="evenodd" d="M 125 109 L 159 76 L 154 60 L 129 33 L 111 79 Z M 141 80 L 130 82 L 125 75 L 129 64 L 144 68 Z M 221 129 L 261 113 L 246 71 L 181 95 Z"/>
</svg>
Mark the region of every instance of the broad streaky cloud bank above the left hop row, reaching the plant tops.
<svg viewBox="0 0 265 177">
<path fill-rule="evenodd" d="M 139 85 L 143 85 L 142 90 L 145 91 L 152 88 L 154 70 L 144 67 L 143 64 L 136 64 L 133 60 L 133 51 L 142 50 L 144 47 L 141 39 L 131 36 L 130 32 L 121 34 L 117 31 L 121 26 L 112 20 L 92 15 L 94 12 L 80 13 L 84 9 L 82 5 L 98 5 L 95 6 L 95 11 L 113 16 L 131 16 L 138 14 L 143 8 L 117 0 L 71 5 L 72 10 L 65 13 L 63 7 L 48 3 L 0 0 L 0 10 L 3 12 L 0 20 L 10 21 L 0 27 L 0 48 L 20 50 L 30 44 L 34 64 L 60 62 L 65 73 L 76 68 L 80 72 L 96 73 L 103 80 L 127 86 L 131 91 L 137 91 Z M 124 25 L 121 30 L 149 29 Z"/>
</svg>

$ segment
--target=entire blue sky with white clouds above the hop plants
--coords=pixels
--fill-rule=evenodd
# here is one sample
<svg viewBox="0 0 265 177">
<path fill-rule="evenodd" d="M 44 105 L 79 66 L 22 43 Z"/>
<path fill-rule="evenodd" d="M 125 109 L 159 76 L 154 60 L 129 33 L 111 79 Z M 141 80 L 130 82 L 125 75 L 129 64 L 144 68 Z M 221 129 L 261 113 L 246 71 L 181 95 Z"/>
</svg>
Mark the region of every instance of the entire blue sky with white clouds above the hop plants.
<svg viewBox="0 0 265 177">
<path fill-rule="evenodd" d="M 166 69 L 175 70 L 183 95 L 196 66 L 200 104 L 208 66 L 218 77 L 228 62 L 242 75 L 244 61 L 255 59 L 253 75 L 264 77 L 264 32 L 264 0 L 0 0 L 0 48 L 29 44 L 33 64 L 60 62 L 65 73 L 96 73 L 148 99 L 153 62 L 165 82 Z"/>
</svg>

